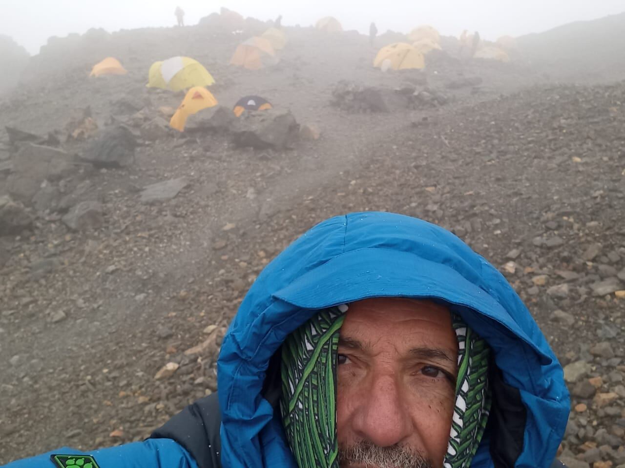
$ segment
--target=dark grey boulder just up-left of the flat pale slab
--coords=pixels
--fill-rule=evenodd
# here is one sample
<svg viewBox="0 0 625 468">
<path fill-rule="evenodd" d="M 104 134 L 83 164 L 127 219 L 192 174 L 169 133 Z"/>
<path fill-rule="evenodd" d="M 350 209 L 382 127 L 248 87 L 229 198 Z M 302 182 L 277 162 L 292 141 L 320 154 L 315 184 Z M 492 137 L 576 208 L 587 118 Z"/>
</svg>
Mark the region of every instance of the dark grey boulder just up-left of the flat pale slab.
<svg viewBox="0 0 625 468">
<path fill-rule="evenodd" d="M 103 132 L 82 158 L 96 167 L 123 167 L 134 162 L 136 147 L 133 132 L 119 125 Z"/>
</svg>

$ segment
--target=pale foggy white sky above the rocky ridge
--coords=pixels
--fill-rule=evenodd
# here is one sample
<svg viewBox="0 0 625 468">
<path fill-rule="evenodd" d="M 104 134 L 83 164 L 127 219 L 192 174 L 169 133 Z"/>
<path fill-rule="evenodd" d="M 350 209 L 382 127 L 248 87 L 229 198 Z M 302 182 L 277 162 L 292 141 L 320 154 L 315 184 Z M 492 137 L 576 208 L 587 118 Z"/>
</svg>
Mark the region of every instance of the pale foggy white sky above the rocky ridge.
<svg viewBox="0 0 625 468">
<path fill-rule="evenodd" d="M 486 39 L 541 32 L 625 11 L 624 0 L 0 0 L 0 34 L 37 54 L 49 36 L 83 33 L 90 27 L 113 32 L 171 26 L 177 4 L 186 11 L 187 24 L 225 6 L 263 20 L 282 14 L 287 26 L 308 26 L 332 15 L 345 29 L 361 32 L 368 31 L 371 21 L 380 32 L 407 32 L 431 24 L 443 34 L 469 29 Z"/>
</svg>

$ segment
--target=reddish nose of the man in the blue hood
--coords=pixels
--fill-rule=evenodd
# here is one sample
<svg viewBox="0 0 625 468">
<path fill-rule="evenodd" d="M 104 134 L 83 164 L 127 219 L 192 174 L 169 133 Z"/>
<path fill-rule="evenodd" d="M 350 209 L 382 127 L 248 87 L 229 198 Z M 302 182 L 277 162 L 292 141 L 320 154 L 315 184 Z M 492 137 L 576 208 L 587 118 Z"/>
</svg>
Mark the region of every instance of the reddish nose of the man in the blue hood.
<svg viewBox="0 0 625 468">
<path fill-rule="evenodd" d="M 412 434 L 410 412 L 394 376 L 372 379 L 371 388 L 363 389 L 362 394 L 362 403 L 352 420 L 357 436 L 376 446 L 389 447 Z"/>
</svg>

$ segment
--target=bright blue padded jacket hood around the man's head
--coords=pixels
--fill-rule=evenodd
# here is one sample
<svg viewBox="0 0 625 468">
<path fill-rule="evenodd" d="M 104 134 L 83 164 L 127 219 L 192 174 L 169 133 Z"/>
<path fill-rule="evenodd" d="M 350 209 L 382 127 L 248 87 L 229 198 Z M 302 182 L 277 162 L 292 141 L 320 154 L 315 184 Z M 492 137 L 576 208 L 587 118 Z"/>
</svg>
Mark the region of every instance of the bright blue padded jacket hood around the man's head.
<svg viewBox="0 0 625 468">
<path fill-rule="evenodd" d="M 549 467 L 564 435 L 562 368 L 499 271 L 441 227 L 394 213 L 351 213 L 312 228 L 248 291 L 217 363 L 222 466 L 292 467 L 279 409 L 264 396 L 269 362 L 316 310 L 380 296 L 443 301 L 494 355 L 490 430 L 472 467 Z"/>
</svg>

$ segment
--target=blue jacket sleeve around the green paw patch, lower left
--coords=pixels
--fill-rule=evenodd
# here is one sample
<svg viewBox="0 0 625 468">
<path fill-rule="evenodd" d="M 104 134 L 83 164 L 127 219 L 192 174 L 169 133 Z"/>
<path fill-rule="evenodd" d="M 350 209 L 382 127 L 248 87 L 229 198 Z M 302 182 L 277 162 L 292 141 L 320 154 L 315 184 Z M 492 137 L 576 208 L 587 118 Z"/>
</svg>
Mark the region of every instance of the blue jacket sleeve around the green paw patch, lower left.
<svg viewBox="0 0 625 468">
<path fill-rule="evenodd" d="M 68 447 L 18 460 L 2 468 L 58 468 L 53 455 L 92 456 L 99 468 L 197 468 L 194 459 L 171 439 L 148 439 L 108 449 L 80 452 Z"/>
</svg>

